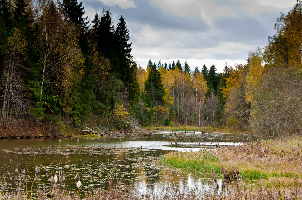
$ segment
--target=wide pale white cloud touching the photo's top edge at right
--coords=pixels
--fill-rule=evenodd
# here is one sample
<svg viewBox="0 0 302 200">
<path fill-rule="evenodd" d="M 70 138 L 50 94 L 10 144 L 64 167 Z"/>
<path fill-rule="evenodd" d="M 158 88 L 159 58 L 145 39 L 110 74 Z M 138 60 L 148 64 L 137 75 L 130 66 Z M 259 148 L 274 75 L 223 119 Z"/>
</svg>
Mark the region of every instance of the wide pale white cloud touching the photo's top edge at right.
<svg viewBox="0 0 302 200">
<path fill-rule="evenodd" d="M 162 11 L 179 16 L 196 15 L 212 25 L 217 17 L 243 14 L 257 16 L 262 12 L 285 12 L 292 8 L 296 0 L 232 0 L 227 3 L 217 0 L 153 0 Z"/>
</svg>

